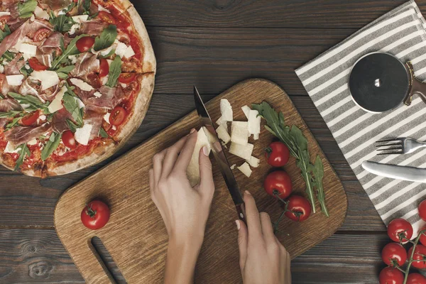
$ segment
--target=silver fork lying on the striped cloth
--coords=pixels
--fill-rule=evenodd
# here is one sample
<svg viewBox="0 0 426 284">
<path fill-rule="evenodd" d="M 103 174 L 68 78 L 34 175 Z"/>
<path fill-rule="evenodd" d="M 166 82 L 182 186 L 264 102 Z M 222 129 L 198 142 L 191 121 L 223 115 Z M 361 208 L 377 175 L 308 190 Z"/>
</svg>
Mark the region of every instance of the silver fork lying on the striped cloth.
<svg viewBox="0 0 426 284">
<path fill-rule="evenodd" d="M 408 154 L 425 147 L 426 143 L 415 141 L 413 138 L 394 138 L 376 142 L 376 150 L 381 151 L 377 155 Z"/>
</svg>

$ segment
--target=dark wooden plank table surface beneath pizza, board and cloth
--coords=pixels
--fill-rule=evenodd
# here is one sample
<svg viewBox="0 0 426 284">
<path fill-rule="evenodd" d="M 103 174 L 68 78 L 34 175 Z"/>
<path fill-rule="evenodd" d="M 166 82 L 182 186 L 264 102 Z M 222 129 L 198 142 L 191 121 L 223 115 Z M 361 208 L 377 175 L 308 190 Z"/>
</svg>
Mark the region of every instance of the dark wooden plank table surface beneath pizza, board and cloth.
<svg viewBox="0 0 426 284">
<path fill-rule="evenodd" d="M 265 77 L 290 94 L 349 199 L 346 221 L 337 234 L 293 261 L 293 283 L 378 283 L 386 227 L 294 70 L 404 1 L 133 3 L 158 62 L 146 119 L 119 153 L 77 173 L 40 180 L 0 167 L 0 283 L 84 283 L 53 228 L 53 208 L 61 193 L 195 109 L 193 84 L 208 100 L 249 77 Z M 426 0 L 417 4 L 426 13 Z M 111 258 L 104 258 L 111 264 Z M 116 274 L 113 264 L 111 270 Z"/>
</svg>

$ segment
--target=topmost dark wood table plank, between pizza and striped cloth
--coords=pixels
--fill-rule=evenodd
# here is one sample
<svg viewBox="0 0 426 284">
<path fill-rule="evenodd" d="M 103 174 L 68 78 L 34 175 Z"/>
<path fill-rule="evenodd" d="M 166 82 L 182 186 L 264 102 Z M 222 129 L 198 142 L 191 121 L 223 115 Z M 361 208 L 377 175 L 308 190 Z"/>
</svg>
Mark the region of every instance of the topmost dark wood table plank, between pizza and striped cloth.
<svg viewBox="0 0 426 284">
<path fill-rule="evenodd" d="M 132 2 L 148 26 L 361 28 L 405 0 Z M 425 1 L 416 2 L 426 11 Z"/>
</svg>

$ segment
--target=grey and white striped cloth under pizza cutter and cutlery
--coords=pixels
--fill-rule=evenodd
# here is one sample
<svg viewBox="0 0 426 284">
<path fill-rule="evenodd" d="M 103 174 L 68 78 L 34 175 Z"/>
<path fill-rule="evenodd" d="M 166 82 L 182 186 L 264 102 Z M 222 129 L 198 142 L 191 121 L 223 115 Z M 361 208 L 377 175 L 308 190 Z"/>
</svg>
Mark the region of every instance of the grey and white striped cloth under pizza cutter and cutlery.
<svg viewBox="0 0 426 284">
<path fill-rule="evenodd" d="M 426 167 L 426 149 L 408 155 L 376 155 L 373 143 L 382 138 L 412 137 L 426 141 L 426 105 L 419 97 L 385 114 L 371 114 L 352 101 L 349 72 L 366 53 L 391 53 L 411 61 L 415 75 L 426 80 L 426 21 L 409 1 L 354 33 L 296 70 L 315 106 L 373 202 L 383 222 L 404 218 L 415 231 L 425 222 L 417 205 L 426 199 L 426 184 L 378 177 L 361 167 L 364 160 Z"/>
</svg>

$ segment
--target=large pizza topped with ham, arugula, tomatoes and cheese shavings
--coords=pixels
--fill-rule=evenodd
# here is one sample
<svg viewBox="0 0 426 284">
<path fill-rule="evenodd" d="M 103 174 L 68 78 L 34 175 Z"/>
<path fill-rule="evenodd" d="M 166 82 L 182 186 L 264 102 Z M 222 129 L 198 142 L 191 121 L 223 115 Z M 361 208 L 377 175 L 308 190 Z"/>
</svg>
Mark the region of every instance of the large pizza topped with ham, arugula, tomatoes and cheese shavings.
<svg viewBox="0 0 426 284">
<path fill-rule="evenodd" d="M 45 178 L 108 158 L 141 125 L 155 70 L 129 1 L 0 1 L 1 165 Z"/>
</svg>

